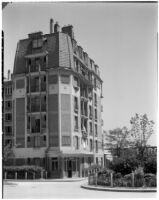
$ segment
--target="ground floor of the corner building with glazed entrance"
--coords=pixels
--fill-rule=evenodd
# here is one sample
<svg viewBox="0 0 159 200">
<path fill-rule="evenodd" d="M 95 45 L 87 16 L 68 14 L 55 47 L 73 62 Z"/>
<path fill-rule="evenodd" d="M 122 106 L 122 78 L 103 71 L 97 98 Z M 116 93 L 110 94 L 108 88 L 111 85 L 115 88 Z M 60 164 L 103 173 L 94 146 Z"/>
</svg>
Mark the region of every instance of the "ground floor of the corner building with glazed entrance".
<svg viewBox="0 0 159 200">
<path fill-rule="evenodd" d="M 11 166 L 36 165 L 47 172 L 47 178 L 87 177 L 88 168 L 93 164 L 103 165 L 103 157 L 94 155 L 54 155 L 44 158 L 15 158 L 8 162 Z M 46 177 L 46 176 L 45 176 Z"/>
</svg>

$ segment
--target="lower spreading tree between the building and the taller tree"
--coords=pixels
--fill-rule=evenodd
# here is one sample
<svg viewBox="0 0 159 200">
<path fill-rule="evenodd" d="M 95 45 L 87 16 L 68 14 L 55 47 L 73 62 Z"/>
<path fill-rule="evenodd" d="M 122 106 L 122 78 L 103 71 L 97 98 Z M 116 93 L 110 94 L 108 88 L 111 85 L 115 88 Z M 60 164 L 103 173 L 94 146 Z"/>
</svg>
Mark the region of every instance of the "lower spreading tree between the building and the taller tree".
<svg viewBox="0 0 159 200">
<path fill-rule="evenodd" d="M 112 154 L 115 156 L 120 157 L 121 150 L 127 148 L 129 145 L 127 136 L 127 127 L 110 130 L 107 134 L 105 134 L 105 148 L 111 150 Z"/>
</svg>

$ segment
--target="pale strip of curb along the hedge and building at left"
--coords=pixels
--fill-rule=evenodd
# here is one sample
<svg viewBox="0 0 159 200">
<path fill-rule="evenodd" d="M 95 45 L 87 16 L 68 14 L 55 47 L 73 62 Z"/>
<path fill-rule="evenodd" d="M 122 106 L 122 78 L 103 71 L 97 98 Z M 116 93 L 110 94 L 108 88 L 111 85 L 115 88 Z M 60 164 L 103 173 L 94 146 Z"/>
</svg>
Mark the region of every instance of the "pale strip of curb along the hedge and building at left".
<svg viewBox="0 0 159 200">
<path fill-rule="evenodd" d="M 34 180 L 21 180 L 21 179 L 6 179 L 3 180 L 5 182 L 79 182 L 86 180 L 87 178 L 79 178 L 79 179 L 34 179 Z"/>
</svg>

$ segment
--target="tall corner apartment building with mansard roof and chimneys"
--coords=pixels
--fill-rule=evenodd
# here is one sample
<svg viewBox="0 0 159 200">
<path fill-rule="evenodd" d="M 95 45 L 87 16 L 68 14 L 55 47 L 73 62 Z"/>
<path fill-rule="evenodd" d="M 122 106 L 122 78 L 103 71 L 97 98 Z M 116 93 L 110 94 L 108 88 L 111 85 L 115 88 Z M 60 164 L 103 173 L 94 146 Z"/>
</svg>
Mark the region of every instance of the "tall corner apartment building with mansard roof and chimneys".
<svg viewBox="0 0 159 200">
<path fill-rule="evenodd" d="M 12 77 L 15 165 L 43 166 L 51 178 L 82 177 L 103 165 L 99 67 L 71 25 L 17 44 Z"/>
</svg>

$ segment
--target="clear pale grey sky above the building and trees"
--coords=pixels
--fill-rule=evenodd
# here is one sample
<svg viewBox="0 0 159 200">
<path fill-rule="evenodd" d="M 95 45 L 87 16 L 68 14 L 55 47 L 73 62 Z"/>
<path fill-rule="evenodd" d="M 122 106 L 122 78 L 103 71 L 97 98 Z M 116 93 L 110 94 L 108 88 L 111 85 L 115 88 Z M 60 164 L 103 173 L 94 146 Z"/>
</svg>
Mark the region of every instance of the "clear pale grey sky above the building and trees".
<svg viewBox="0 0 159 200">
<path fill-rule="evenodd" d="M 50 18 L 60 27 L 72 24 L 78 44 L 100 68 L 105 130 L 130 128 L 135 113 L 157 122 L 156 3 L 8 4 L 2 12 L 6 77 L 17 42 L 31 32 L 49 33 Z M 155 134 L 149 143 L 156 145 Z"/>
</svg>

